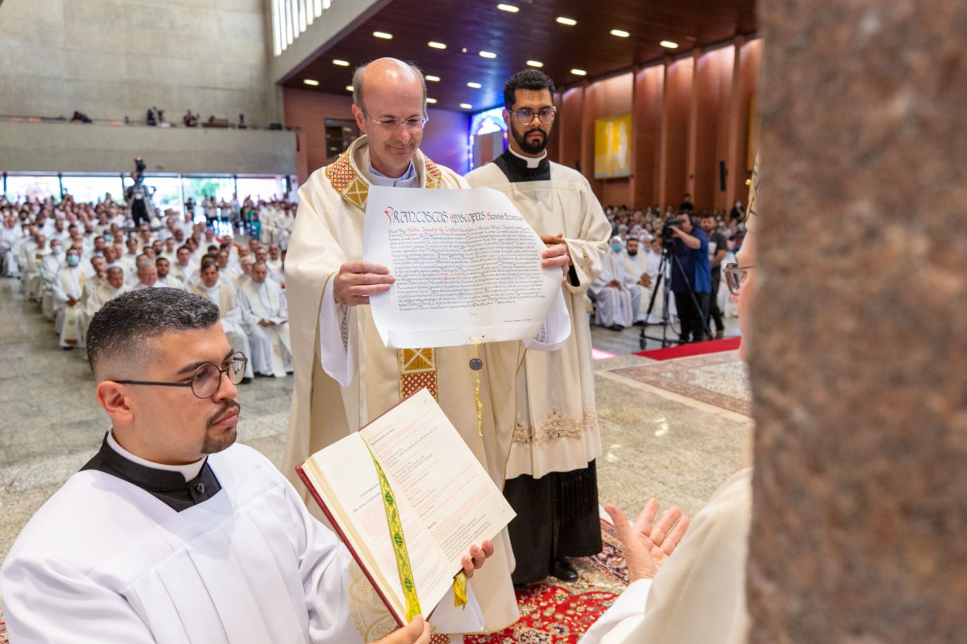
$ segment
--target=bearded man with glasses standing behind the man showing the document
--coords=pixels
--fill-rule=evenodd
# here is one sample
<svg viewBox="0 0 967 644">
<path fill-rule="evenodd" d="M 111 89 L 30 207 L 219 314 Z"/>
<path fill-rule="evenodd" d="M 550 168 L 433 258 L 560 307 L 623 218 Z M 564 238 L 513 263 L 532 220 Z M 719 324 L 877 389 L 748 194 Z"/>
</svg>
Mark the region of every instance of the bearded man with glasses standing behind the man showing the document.
<svg viewBox="0 0 967 644">
<path fill-rule="evenodd" d="M 568 252 L 561 288 L 571 337 L 554 352 L 501 345 L 508 364 L 520 365 L 515 404 L 497 419 L 498 435 L 513 434 L 504 496 L 517 512 L 508 526 L 517 585 L 547 575 L 573 581 L 577 571 L 567 558 L 601 552 L 595 467 L 601 432 L 584 294 L 601 276 L 611 225 L 587 179 L 547 159 L 553 101 L 554 83 L 545 73 L 513 74 L 504 85 L 510 147 L 466 177 L 471 186 L 507 194 L 548 248 L 563 244 Z"/>
</svg>

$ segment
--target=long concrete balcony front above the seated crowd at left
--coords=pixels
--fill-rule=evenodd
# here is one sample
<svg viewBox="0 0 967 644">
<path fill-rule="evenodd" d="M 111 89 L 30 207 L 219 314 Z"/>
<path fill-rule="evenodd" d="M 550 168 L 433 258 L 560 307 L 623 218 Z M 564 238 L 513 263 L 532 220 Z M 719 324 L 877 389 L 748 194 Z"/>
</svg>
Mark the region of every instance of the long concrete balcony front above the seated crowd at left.
<svg viewBox="0 0 967 644">
<path fill-rule="evenodd" d="M 296 135 L 0 122 L 2 171 L 129 172 L 137 156 L 144 158 L 148 172 L 295 174 Z"/>
</svg>

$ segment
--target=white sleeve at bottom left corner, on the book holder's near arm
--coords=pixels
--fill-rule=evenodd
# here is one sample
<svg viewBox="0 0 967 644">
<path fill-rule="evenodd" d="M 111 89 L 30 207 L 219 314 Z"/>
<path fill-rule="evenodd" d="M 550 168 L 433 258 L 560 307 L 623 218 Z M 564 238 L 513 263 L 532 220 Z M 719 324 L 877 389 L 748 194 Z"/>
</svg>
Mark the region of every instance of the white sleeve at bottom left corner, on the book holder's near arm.
<svg viewBox="0 0 967 644">
<path fill-rule="evenodd" d="M 15 558 L 4 567 L 0 591 L 16 644 L 155 641 L 127 600 L 58 561 Z"/>
</svg>

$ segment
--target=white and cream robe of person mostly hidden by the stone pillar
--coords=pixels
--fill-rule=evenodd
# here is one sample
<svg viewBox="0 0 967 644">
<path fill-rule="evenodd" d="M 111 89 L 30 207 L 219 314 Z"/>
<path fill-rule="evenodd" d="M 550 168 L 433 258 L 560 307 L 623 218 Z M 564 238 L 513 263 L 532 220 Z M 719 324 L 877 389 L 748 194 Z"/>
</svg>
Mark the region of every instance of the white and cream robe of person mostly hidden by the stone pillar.
<svg viewBox="0 0 967 644">
<path fill-rule="evenodd" d="M 722 483 L 655 579 L 631 584 L 580 644 L 744 644 L 751 477 Z"/>
</svg>

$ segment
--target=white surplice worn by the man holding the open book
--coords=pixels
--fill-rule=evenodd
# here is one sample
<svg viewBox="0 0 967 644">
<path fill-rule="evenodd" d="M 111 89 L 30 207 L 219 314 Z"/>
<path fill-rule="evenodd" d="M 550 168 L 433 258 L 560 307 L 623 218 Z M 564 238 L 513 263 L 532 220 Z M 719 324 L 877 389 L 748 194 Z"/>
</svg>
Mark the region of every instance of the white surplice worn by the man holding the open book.
<svg viewBox="0 0 967 644">
<path fill-rule="evenodd" d="M 0 572 L 11 641 L 360 642 L 336 536 L 254 450 L 208 463 L 220 491 L 182 512 L 110 474 L 74 474 Z"/>
</svg>

